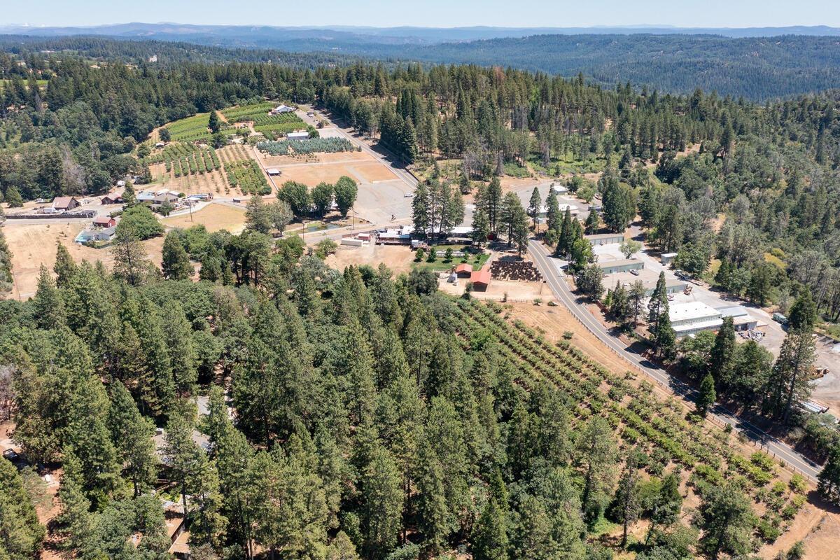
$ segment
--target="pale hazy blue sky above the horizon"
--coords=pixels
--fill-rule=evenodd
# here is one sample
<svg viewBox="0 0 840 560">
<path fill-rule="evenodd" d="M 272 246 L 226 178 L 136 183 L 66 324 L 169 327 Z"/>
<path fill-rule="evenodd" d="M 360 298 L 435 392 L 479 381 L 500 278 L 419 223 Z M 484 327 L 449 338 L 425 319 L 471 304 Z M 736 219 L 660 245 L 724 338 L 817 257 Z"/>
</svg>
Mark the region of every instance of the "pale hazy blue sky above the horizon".
<svg viewBox="0 0 840 560">
<path fill-rule="evenodd" d="M 238 9 L 238 6 L 242 8 Z M 0 0 L 0 25 L 127 22 L 267 25 L 840 27 L 837 0 Z"/>
</svg>

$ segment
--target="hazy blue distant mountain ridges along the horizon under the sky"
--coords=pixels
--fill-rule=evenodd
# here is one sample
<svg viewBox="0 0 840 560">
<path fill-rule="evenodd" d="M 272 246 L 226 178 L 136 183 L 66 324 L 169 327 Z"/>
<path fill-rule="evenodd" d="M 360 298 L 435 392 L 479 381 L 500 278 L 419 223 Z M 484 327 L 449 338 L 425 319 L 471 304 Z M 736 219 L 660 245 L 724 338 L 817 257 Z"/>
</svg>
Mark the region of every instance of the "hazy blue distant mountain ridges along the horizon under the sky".
<svg viewBox="0 0 840 560">
<path fill-rule="evenodd" d="M 0 34 L 10 29 L 11 26 L 0 28 Z M 636 86 L 675 93 L 689 93 L 700 87 L 754 101 L 840 88 L 840 29 L 828 27 L 760 28 L 776 34 L 746 37 L 686 34 L 685 29 L 649 27 L 587 29 L 591 31 L 588 34 L 558 33 L 562 28 L 279 28 L 192 24 L 14 29 L 27 36 L 0 36 L 4 44 L 29 44 L 32 50 L 79 50 L 93 56 L 120 52 L 120 56 L 135 62 L 165 50 L 170 60 L 286 60 L 295 65 L 312 65 L 318 61 L 345 64 L 364 58 L 389 64 L 498 65 L 566 77 L 582 73 L 602 86 L 629 81 Z M 654 29 L 662 33 L 650 33 Z M 728 31 L 759 33 L 756 29 Z M 802 29 L 810 34 L 793 33 Z M 534 34 L 547 30 L 552 33 Z M 517 35 L 525 32 L 529 34 Z M 511 36 L 480 38 L 494 34 Z M 123 46 L 115 50 L 108 44 L 111 40 Z M 149 44 L 150 41 L 161 43 Z M 139 56 L 141 51 L 144 57 Z"/>
</svg>

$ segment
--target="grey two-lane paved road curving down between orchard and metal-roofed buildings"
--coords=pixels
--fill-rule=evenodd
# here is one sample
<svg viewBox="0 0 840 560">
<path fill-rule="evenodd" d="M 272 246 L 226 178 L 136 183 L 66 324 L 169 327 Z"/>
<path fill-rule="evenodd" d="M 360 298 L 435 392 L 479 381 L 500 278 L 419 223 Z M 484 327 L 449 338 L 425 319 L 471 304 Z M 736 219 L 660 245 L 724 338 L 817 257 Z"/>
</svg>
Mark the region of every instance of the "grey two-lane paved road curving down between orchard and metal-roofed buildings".
<svg viewBox="0 0 840 560">
<path fill-rule="evenodd" d="M 552 258 L 549 257 L 548 251 L 543 247 L 542 243 L 531 240 L 528 243 L 528 249 L 534 264 L 548 282 L 549 287 L 554 292 L 554 296 L 564 306 L 569 308 L 569 311 L 577 317 L 578 321 L 583 323 L 584 327 L 595 334 L 596 337 L 600 338 L 601 342 L 605 343 L 615 353 L 623 359 L 626 359 L 627 362 L 633 364 L 636 368 L 641 369 L 645 374 L 654 378 L 659 384 L 669 387 L 669 390 L 672 390 L 685 400 L 695 402 L 697 391 L 693 387 L 683 383 L 679 379 L 675 379 L 667 371 L 659 368 L 658 365 L 627 348 L 626 344 L 622 343 L 620 339 L 613 337 L 600 321 L 592 317 L 592 314 L 585 306 L 577 302 L 577 297 L 571 292 L 569 285 L 566 284 L 561 276 L 563 273 L 552 262 Z M 759 427 L 753 426 L 753 424 L 743 420 L 743 418 L 732 414 L 724 406 L 715 405 L 710 412 L 710 416 L 713 416 L 718 422 L 731 425 L 738 432 L 743 432 L 746 437 L 756 443 L 760 443 L 766 451 L 773 453 L 776 458 L 784 460 L 790 467 L 795 468 L 796 471 L 805 474 L 810 479 L 816 480 L 816 475 L 822 470 L 818 464 L 795 452 L 785 442 L 781 442 L 775 437 L 763 432 Z"/>
</svg>

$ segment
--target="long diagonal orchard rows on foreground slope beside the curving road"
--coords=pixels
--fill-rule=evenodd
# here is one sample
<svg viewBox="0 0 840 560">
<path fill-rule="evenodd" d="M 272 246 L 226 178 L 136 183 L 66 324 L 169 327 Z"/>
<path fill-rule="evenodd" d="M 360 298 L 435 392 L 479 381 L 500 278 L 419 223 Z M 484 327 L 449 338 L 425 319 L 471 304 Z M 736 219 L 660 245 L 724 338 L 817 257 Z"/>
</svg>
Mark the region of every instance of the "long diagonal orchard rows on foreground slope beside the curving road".
<svg viewBox="0 0 840 560">
<path fill-rule="evenodd" d="M 551 345 L 521 323 L 512 327 L 510 322 L 498 315 L 499 311 L 501 306 L 497 304 L 459 301 L 459 312 L 454 317 L 455 327 L 466 336 L 470 336 L 476 328 L 489 330 L 499 343 L 501 355 L 519 366 L 523 385 L 532 385 L 533 379 L 549 379 L 568 395 L 570 404 L 584 407 L 578 410 L 581 419 L 591 411 L 605 416 L 613 427 L 623 423 L 622 438 L 626 442 L 647 440 L 654 445 L 653 454 L 664 458 L 664 463 L 673 460 L 684 465 L 692 471 L 690 484 L 701 494 L 711 484 L 722 484 L 726 479 L 734 478 L 740 479 L 745 489 L 752 489 L 756 500 L 767 501 L 764 496 L 767 493 L 761 487 L 774 479 L 775 465 L 765 453 L 753 453 L 748 461 L 706 436 L 700 426 L 683 420 L 675 411 L 669 411 L 663 402 L 650 394 L 646 382 L 643 382 L 641 390 L 633 388 L 600 365 L 580 356 L 580 351 L 569 343 Z M 627 406 L 622 406 L 618 399 L 606 399 L 596 384 L 599 379 L 610 385 L 610 395 L 618 389 L 617 394 L 632 395 L 633 398 Z M 727 460 L 728 468 L 723 468 L 722 458 Z M 725 477 L 727 470 L 730 474 Z M 733 471 L 746 477 L 738 477 Z M 783 483 L 777 482 L 774 489 L 780 485 Z M 801 491 L 795 489 L 790 500 L 776 495 L 778 504 L 774 505 L 780 506 L 776 510 L 785 512 L 785 519 L 790 520 L 801 508 Z M 778 516 L 764 516 L 755 528 L 757 534 L 768 542 L 772 542 L 782 531 Z"/>
</svg>

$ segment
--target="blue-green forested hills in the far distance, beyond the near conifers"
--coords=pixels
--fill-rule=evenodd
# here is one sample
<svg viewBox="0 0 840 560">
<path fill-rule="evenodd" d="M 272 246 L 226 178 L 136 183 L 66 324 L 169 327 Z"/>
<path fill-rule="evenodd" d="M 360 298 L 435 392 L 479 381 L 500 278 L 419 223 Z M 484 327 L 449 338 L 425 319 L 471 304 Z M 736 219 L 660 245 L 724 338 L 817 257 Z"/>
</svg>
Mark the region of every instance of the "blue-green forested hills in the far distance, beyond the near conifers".
<svg viewBox="0 0 840 560">
<path fill-rule="evenodd" d="M 454 42 L 345 37 L 342 32 L 283 34 L 261 29 L 236 39 L 213 34 L 160 36 L 166 40 L 115 40 L 103 36 L 25 37 L 0 35 L 13 50 L 71 50 L 91 58 L 118 56 L 139 63 L 156 55 L 173 61 L 274 61 L 312 66 L 345 65 L 364 57 L 396 61 L 476 64 L 583 74 L 601 86 L 631 82 L 660 92 L 688 94 L 696 87 L 721 96 L 766 101 L 840 87 L 837 37 L 785 34 L 731 38 L 716 34 L 530 34 Z M 536 33 L 536 32 L 535 32 Z M 138 38 L 140 39 L 140 38 Z M 192 44 L 190 44 L 192 43 Z M 235 47 L 235 48 L 231 48 Z"/>
</svg>

